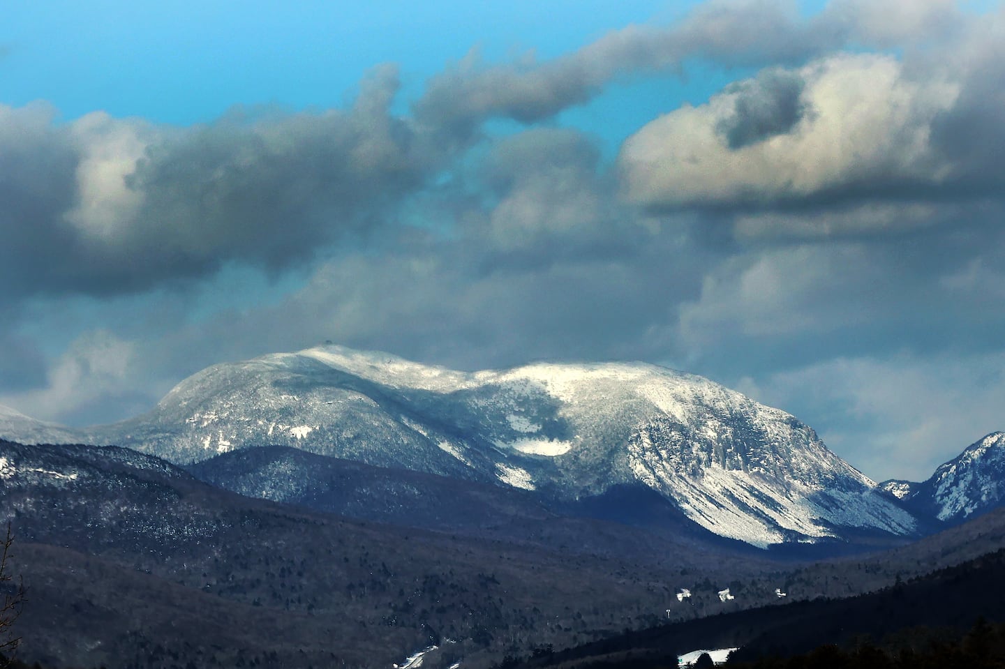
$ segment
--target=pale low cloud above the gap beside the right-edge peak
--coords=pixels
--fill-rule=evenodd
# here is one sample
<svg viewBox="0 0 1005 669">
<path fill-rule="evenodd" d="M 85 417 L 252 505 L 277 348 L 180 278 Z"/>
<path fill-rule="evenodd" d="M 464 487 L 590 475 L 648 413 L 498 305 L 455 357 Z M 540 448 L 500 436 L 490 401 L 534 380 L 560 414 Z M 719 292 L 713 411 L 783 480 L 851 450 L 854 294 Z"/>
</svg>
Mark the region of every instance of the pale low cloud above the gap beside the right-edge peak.
<svg viewBox="0 0 1005 669">
<path fill-rule="evenodd" d="M 739 384 L 813 415 L 824 442 L 875 480 L 922 481 L 1005 429 L 1005 354 L 839 358 Z"/>
</svg>

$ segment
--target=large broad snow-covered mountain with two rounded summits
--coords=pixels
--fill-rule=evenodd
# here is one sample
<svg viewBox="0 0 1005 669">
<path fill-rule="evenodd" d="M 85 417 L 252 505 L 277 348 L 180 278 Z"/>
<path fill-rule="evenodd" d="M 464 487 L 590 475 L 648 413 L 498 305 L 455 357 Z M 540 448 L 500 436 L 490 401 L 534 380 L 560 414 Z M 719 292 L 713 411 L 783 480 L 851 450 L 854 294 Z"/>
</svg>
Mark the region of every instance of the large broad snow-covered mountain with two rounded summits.
<svg viewBox="0 0 1005 669">
<path fill-rule="evenodd" d="M 464 373 L 319 347 L 208 368 L 151 413 L 88 437 L 183 464 L 295 446 L 567 500 L 642 483 L 760 546 L 918 528 L 793 416 L 641 363 Z"/>
</svg>

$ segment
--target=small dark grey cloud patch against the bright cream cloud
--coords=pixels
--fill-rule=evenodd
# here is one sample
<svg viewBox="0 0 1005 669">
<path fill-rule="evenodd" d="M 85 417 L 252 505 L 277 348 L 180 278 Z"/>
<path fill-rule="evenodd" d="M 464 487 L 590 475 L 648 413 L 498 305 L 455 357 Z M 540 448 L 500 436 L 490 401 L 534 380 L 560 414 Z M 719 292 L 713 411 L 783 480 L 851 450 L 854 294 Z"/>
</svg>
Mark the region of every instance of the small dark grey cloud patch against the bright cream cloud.
<svg viewBox="0 0 1005 669">
<path fill-rule="evenodd" d="M 802 99 L 805 86 L 797 72 L 769 69 L 753 81 L 727 88 L 735 93 L 734 112 L 719 122 L 718 130 L 729 148 L 742 149 L 795 128 L 807 113 Z"/>
</svg>

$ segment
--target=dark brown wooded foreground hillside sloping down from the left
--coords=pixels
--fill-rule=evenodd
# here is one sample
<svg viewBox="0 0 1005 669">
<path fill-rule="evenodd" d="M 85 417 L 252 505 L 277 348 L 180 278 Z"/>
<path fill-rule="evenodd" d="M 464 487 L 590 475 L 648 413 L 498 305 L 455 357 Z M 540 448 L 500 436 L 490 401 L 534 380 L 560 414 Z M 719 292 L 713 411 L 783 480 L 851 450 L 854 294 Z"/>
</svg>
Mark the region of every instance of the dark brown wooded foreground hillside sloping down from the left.
<svg viewBox="0 0 1005 669">
<path fill-rule="evenodd" d="M 0 442 L 0 510 L 29 593 L 21 657 L 51 666 L 389 666 L 433 641 L 477 666 L 651 624 L 681 569 L 718 584 L 766 565 L 665 539 L 633 562 L 351 521 L 113 447 Z"/>
</svg>

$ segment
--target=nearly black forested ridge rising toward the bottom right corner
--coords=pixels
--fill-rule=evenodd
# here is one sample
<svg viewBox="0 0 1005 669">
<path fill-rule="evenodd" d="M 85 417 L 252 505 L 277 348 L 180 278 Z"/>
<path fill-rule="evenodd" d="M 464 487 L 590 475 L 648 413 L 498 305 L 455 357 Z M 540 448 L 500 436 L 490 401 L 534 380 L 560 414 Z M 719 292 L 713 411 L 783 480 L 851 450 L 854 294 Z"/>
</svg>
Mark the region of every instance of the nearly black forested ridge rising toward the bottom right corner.
<svg viewBox="0 0 1005 669">
<path fill-rule="evenodd" d="M 523 661 L 511 658 L 504 664 L 645 669 L 671 666 L 678 655 L 696 649 L 739 648 L 731 655 L 731 665 L 914 666 L 894 662 L 904 658 L 921 662 L 927 653 L 929 659 L 961 659 L 974 651 L 978 638 L 983 640 L 981 648 L 987 646 L 986 653 L 1005 659 L 1005 626 L 989 626 L 987 621 L 1005 623 L 1005 549 L 897 581 L 875 593 L 662 625 L 559 652 L 539 649 Z M 787 664 L 786 658 L 797 657 Z"/>
</svg>

